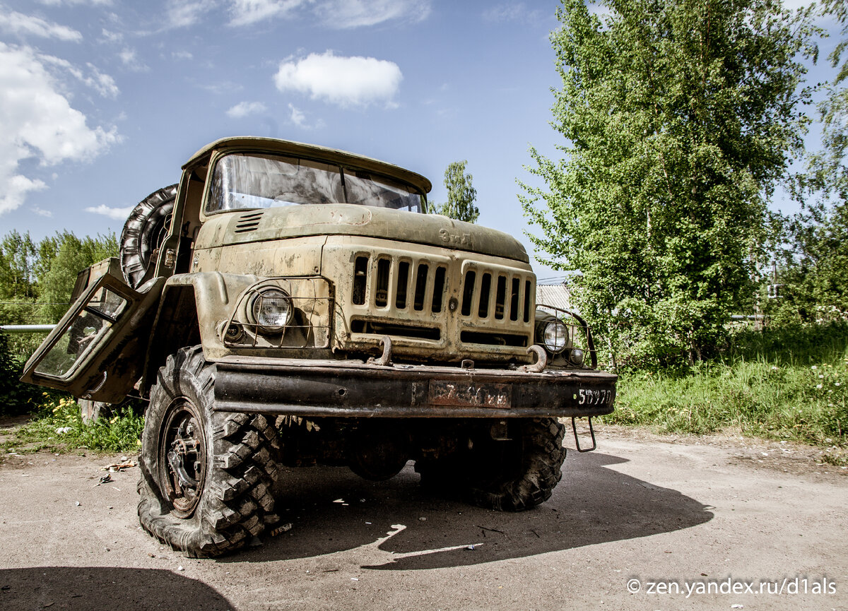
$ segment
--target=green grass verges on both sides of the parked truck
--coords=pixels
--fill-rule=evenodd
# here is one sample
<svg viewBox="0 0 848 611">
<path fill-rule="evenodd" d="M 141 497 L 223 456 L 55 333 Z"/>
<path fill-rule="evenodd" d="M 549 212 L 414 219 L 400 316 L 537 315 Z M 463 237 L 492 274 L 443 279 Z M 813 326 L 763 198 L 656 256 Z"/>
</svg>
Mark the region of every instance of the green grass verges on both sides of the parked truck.
<svg viewBox="0 0 848 611">
<path fill-rule="evenodd" d="M 828 447 L 824 462 L 848 465 L 848 323 L 742 330 L 721 357 L 685 371 L 620 375 L 616 411 L 605 423 L 661 433 L 740 431 Z M 0 452 L 140 447 L 143 418 L 130 408 L 86 425 L 73 399 L 47 392 L 40 398 L 28 424 L 3 432 Z"/>
</svg>

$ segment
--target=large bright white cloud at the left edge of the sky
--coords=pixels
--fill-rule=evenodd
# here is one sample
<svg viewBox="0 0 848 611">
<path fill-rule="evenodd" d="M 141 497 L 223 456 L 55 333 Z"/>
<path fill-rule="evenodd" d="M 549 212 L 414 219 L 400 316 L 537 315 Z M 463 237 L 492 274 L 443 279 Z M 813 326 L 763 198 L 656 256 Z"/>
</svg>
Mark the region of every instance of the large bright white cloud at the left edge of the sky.
<svg viewBox="0 0 848 611">
<path fill-rule="evenodd" d="M 24 159 L 42 166 L 87 161 L 120 141 L 114 127 L 86 125 L 86 116 L 60 92 L 51 64 L 57 65 L 31 47 L 0 42 L 0 214 L 18 208 L 28 192 L 47 188 L 20 174 Z"/>
</svg>

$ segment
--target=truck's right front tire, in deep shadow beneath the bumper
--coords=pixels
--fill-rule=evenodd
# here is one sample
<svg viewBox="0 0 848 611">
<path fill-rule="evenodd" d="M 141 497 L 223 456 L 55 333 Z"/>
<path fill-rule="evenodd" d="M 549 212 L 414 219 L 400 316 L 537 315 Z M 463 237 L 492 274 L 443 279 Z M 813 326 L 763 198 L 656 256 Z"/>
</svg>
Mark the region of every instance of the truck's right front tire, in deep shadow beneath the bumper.
<svg viewBox="0 0 848 611">
<path fill-rule="evenodd" d="M 565 427 L 552 418 L 521 419 L 510 441 L 477 436 L 466 453 L 416 463 L 428 490 L 459 492 L 471 503 L 523 511 L 550 498 L 562 479 Z"/>
</svg>

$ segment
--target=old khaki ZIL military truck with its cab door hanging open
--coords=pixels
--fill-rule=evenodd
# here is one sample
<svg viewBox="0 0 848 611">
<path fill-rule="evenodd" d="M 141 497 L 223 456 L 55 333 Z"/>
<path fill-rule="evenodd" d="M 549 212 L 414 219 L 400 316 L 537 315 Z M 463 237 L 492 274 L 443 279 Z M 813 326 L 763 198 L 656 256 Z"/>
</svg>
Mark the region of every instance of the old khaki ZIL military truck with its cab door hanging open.
<svg viewBox="0 0 848 611">
<path fill-rule="evenodd" d="M 589 327 L 536 303 L 520 242 L 427 213 L 421 175 L 232 137 L 133 210 L 23 380 L 148 403 L 138 515 L 190 556 L 279 519 L 281 465 L 348 465 L 487 508 L 543 503 L 560 419 L 609 414 Z M 588 444 L 586 444 L 588 445 Z"/>
</svg>

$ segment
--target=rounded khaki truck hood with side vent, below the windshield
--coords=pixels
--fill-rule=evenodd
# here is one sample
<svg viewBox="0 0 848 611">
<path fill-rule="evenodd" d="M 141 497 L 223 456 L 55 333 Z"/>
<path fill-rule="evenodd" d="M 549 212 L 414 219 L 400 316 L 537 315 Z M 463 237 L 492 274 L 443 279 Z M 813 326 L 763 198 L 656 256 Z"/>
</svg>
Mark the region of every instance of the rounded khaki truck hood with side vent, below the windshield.
<svg viewBox="0 0 848 611">
<path fill-rule="evenodd" d="M 196 248 L 303 236 L 364 236 L 427 244 L 529 263 L 521 242 L 503 231 L 388 208 L 332 203 L 239 210 L 204 222 Z"/>
</svg>

